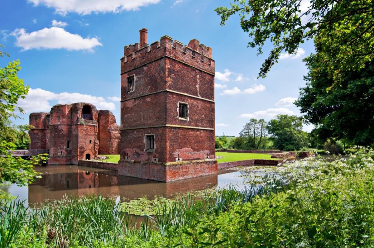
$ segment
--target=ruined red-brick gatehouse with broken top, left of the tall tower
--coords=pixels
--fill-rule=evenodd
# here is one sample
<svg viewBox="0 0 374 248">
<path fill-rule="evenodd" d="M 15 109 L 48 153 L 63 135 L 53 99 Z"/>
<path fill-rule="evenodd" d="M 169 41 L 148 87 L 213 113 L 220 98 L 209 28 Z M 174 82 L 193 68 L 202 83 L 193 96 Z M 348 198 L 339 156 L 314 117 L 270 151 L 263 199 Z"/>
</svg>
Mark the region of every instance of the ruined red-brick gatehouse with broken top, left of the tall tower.
<svg viewBox="0 0 374 248">
<path fill-rule="evenodd" d="M 98 154 L 119 154 L 119 126 L 109 110 L 89 103 L 58 104 L 31 113 L 30 150 L 49 149 L 50 165 L 78 164 Z"/>
</svg>

